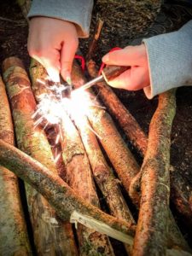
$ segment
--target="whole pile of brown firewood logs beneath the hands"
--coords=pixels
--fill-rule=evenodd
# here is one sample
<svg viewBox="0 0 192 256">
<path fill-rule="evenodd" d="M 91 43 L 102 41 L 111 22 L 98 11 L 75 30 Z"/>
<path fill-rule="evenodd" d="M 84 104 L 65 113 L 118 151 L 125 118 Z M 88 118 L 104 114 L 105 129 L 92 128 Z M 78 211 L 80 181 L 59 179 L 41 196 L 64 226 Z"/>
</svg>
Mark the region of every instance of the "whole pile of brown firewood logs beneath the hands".
<svg viewBox="0 0 192 256">
<path fill-rule="evenodd" d="M 3 61 L 0 255 L 192 255 L 170 210 L 171 177 L 172 204 L 191 224 L 192 191 L 170 166 L 176 91 L 159 96 L 148 135 L 105 82 L 84 92 L 86 114 L 63 110 L 60 125 L 45 125 L 32 117 L 47 73 L 34 60 L 27 73 L 20 59 Z M 72 78 L 75 89 L 86 82 L 75 61 Z"/>
</svg>

